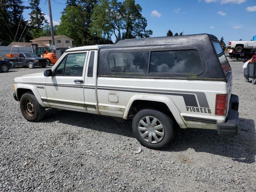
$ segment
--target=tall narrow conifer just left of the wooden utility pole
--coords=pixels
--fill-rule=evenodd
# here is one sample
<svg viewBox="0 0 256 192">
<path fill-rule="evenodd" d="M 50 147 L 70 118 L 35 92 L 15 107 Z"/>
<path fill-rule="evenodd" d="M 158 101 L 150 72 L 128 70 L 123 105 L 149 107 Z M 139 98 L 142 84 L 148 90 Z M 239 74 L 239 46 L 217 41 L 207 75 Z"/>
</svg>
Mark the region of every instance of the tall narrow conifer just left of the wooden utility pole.
<svg viewBox="0 0 256 192">
<path fill-rule="evenodd" d="M 43 24 L 48 24 L 45 19 L 45 14 L 42 13 L 42 10 L 39 8 L 40 0 L 30 0 L 30 9 L 32 10 L 30 15 L 30 25 L 32 28 L 32 37 L 40 37 L 40 33 L 43 31 Z"/>
</svg>

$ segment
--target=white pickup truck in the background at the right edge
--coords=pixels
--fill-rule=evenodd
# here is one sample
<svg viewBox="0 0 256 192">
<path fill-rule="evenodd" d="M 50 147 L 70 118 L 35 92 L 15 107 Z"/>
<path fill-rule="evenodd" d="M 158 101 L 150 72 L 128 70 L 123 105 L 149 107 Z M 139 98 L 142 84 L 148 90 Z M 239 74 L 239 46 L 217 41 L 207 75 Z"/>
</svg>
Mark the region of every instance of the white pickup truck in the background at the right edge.
<svg viewBox="0 0 256 192">
<path fill-rule="evenodd" d="M 230 41 L 228 47 L 234 49 L 237 53 L 241 53 L 244 50 L 256 49 L 256 36 L 251 41 Z"/>
</svg>

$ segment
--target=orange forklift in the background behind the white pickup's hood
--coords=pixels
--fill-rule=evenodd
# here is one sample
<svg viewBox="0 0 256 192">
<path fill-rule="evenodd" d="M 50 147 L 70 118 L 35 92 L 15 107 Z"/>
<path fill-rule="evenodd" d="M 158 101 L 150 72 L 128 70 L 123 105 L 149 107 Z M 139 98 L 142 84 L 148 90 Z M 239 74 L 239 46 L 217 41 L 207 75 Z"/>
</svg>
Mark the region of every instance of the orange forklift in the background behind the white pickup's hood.
<svg viewBox="0 0 256 192">
<path fill-rule="evenodd" d="M 32 50 L 37 56 L 46 58 L 48 65 L 55 64 L 58 60 L 56 54 L 52 53 L 49 47 L 39 47 L 38 44 L 32 44 Z"/>
</svg>

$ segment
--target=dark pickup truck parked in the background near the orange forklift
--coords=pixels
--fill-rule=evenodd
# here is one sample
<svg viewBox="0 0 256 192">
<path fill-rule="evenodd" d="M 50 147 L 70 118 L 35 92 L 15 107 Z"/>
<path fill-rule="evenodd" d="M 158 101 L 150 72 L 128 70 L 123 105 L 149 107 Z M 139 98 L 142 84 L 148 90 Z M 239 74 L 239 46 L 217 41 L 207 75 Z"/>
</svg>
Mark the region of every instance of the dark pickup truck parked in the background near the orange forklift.
<svg viewBox="0 0 256 192">
<path fill-rule="evenodd" d="M 14 66 L 27 66 L 30 69 L 35 66 L 46 67 L 48 64 L 45 58 L 38 57 L 34 53 L 20 53 L 18 57 L 7 57 L 4 60 L 12 62 Z"/>
</svg>

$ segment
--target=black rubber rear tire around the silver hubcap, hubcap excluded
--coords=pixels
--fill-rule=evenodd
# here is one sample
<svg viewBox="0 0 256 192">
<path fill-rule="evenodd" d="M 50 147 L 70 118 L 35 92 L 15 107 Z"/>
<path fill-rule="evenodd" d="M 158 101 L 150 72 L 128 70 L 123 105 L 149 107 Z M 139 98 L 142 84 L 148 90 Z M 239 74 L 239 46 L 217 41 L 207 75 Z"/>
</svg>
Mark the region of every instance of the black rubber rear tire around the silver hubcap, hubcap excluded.
<svg viewBox="0 0 256 192">
<path fill-rule="evenodd" d="M 142 120 L 143 118 L 146 118 L 146 116 L 150 116 L 150 118 L 152 118 L 152 119 L 157 118 L 157 120 L 162 124 L 163 129 L 164 129 L 164 130 L 162 130 L 162 132 L 164 132 L 164 135 L 159 142 L 157 142 L 154 139 L 154 136 L 152 136 L 152 140 L 154 140 L 152 142 L 155 142 L 155 143 L 148 142 L 149 139 L 148 139 L 148 141 L 144 140 L 144 139 L 147 139 L 147 137 L 149 138 L 149 135 L 142 138 L 141 134 L 146 133 L 146 131 L 139 131 L 138 127 L 139 127 L 140 120 Z M 150 120 L 150 123 L 152 121 Z M 143 128 L 146 128 L 146 127 L 143 127 Z M 148 131 L 148 133 L 152 134 L 152 131 L 154 132 L 154 128 L 150 127 L 150 129 L 153 129 L 153 130 Z M 145 147 L 151 148 L 151 149 L 167 147 L 175 138 L 174 123 L 170 119 L 170 117 L 168 117 L 166 114 L 164 114 L 160 111 L 152 110 L 152 109 L 140 110 L 134 116 L 134 118 L 132 120 L 132 131 L 133 131 L 135 138 L 140 142 L 140 144 L 142 146 L 145 146 Z"/>
</svg>

